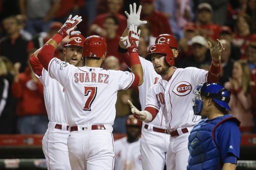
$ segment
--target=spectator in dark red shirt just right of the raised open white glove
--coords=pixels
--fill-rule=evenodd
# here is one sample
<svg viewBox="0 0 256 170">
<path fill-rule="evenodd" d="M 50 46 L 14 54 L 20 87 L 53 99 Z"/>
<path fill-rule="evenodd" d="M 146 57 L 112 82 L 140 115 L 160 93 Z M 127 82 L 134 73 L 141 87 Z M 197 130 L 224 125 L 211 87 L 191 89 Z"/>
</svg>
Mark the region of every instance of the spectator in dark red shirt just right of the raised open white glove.
<svg viewBox="0 0 256 170">
<path fill-rule="evenodd" d="M 140 0 L 141 9 L 140 19 L 147 20 L 151 26 L 151 32 L 154 37 L 159 34 L 172 34 L 168 18 L 164 13 L 154 10 L 153 0 Z"/>
</svg>

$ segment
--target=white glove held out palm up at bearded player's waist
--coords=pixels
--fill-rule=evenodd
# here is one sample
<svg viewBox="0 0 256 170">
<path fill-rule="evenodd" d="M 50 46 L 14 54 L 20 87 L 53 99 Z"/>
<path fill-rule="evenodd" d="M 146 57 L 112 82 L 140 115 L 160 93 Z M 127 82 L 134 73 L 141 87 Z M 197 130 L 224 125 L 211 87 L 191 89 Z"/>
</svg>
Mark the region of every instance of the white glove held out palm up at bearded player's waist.
<svg viewBox="0 0 256 170">
<path fill-rule="evenodd" d="M 133 106 L 131 101 L 127 100 L 127 102 L 130 105 L 130 111 L 134 118 L 144 122 L 150 122 L 152 120 L 152 115 L 149 112 L 145 110 L 139 111 L 135 106 Z"/>
</svg>

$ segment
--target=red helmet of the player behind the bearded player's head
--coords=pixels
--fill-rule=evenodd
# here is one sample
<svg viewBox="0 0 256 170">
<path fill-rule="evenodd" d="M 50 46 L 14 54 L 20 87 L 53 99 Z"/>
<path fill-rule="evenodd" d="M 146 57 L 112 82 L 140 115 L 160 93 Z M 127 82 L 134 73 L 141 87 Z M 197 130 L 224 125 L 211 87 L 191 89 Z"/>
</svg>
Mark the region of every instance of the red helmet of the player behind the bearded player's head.
<svg viewBox="0 0 256 170">
<path fill-rule="evenodd" d="M 160 34 L 156 37 L 155 43 L 163 43 L 168 45 L 170 48 L 178 48 L 178 43 L 175 36 L 170 34 Z"/>
</svg>

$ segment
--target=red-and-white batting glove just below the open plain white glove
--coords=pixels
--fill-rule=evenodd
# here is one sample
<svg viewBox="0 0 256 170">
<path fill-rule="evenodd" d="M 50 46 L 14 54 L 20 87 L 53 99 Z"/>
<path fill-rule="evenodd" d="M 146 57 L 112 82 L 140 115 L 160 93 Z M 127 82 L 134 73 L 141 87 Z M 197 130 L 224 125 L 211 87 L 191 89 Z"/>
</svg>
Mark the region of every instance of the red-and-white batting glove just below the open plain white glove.
<svg viewBox="0 0 256 170">
<path fill-rule="evenodd" d="M 140 36 L 140 29 L 137 31 L 137 26 L 130 25 L 128 36 L 120 37 L 123 45 L 128 49 L 129 52 L 138 51 L 138 42 Z"/>
</svg>

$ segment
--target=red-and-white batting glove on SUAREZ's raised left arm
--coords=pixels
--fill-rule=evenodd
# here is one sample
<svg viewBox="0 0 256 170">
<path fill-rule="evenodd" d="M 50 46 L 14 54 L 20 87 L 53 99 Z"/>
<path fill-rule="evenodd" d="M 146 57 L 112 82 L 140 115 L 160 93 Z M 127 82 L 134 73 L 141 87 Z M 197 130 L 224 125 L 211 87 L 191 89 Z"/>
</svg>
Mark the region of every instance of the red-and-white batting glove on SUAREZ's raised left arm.
<svg viewBox="0 0 256 170">
<path fill-rule="evenodd" d="M 81 16 L 69 15 L 62 27 L 57 31 L 63 38 L 67 35 L 80 34 L 80 31 L 74 31 L 76 25 L 82 21 Z"/>
</svg>

